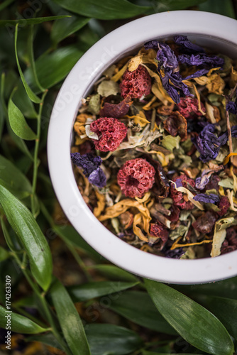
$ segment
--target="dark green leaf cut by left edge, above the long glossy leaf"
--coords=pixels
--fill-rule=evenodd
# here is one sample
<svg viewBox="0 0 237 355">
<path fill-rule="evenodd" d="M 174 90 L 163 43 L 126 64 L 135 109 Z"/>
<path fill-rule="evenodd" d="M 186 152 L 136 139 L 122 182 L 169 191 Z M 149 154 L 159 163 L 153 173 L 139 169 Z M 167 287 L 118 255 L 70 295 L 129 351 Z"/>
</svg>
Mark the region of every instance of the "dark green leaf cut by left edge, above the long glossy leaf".
<svg viewBox="0 0 237 355">
<path fill-rule="evenodd" d="M 1 185 L 18 198 L 31 194 L 32 187 L 28 178 L 3 155 L 0 155 L 0 177 Z"/>
</svg>

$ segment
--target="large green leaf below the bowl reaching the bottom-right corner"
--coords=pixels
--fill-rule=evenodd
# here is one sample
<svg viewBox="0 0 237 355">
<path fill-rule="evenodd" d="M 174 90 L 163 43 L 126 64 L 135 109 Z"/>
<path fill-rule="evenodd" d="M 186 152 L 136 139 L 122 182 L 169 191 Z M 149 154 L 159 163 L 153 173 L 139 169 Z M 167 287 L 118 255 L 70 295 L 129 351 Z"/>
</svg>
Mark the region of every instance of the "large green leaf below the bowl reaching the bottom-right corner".
<svg viewBox="0 0 237 355">
<path fill-rule="evenodd" d="M 233 354 L 226 328 L 208 310 L 162 283 L 145 280 L 145 287 L 160 314 L 189 344 L 209 354 Z"/>
</svg>

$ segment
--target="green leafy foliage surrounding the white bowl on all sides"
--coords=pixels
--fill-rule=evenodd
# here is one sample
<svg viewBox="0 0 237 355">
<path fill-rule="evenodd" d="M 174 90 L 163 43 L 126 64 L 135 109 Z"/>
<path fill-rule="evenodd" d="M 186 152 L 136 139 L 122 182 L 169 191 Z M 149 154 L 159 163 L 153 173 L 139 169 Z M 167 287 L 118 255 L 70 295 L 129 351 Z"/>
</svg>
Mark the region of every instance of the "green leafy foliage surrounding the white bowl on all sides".
<svg viewBox="0 0 237 355">
<path fill-rule="evenodd" d="M 67 222 L 48 175 L 50 112 L 77 60 L 127 21 L 181 9 L 236 18 L 237 4 L 1 1 L 1 354 L 234 354 L 237 277 L 170 286 L 111 265 Z M 7 305 L 11 350 L 4 338 Z"/>
</svg>

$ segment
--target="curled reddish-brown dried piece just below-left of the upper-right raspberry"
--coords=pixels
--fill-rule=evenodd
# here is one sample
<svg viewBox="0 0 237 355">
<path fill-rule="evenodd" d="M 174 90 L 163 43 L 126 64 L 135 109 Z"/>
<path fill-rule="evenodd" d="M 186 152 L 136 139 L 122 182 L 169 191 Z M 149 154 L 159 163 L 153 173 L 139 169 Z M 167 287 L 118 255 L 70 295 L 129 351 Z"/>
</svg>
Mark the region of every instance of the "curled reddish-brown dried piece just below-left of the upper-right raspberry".
<svg viewBox="0 0 237 355">
<path fill-rule="evenodd" d="M 165 120 L 164 129 L 171 134 L 171 136 L 180 136 L 181 141 L 187 139 L 187 121 L 179 111 L 174 111 Z"/>
</svg>

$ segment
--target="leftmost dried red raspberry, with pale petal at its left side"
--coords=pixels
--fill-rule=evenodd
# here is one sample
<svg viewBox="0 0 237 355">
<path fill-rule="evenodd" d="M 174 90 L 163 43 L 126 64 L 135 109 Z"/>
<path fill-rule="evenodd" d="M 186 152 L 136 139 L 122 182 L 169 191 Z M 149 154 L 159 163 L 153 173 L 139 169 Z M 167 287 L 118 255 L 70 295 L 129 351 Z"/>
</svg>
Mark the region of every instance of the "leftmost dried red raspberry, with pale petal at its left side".
<svg viewBox="0 0 237 355">
<path fill-rule="evenodd" d="M 92 132 L 97 133 L 99 140 L 93 139 L 94 146 L 102 152 L 116 151 L 127 134 L 125 124 L 118 121 L 118 119 L 107 117 L 93 121 L 90 124 L 90 129 Z"/>
</svg>

